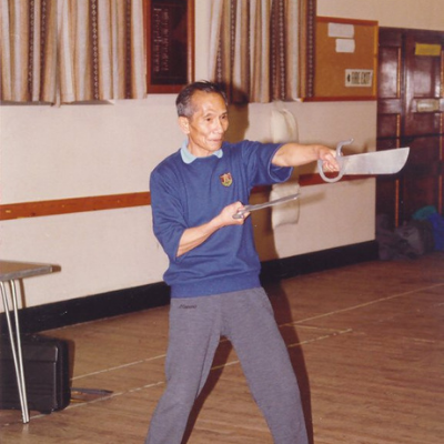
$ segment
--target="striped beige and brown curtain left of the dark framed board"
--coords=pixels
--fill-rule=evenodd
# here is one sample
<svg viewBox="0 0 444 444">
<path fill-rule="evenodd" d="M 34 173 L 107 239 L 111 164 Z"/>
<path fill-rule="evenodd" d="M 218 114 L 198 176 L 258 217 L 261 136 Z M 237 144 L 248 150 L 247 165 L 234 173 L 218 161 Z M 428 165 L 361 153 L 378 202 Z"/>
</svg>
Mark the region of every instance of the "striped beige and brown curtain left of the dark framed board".
<svg viewBox="0 0 444 444">
<path fill-rule="evenodd" d="M 1 100 L 145 95 L 143 0 L 0 0 Z"/>
</svg>

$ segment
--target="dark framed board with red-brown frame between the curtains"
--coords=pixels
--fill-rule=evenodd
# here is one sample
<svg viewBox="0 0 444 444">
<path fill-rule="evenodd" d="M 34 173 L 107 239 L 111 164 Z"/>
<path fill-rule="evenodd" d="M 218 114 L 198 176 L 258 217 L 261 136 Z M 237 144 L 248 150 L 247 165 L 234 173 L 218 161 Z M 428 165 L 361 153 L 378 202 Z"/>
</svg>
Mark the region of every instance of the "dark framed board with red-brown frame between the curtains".
<svg viewBox="0 0 444 444">
<path fill-rule="evenodd" d="M 179 92 L 193 80 L 194 0 L 147 0 L 147 91 Z"/>
</svg>

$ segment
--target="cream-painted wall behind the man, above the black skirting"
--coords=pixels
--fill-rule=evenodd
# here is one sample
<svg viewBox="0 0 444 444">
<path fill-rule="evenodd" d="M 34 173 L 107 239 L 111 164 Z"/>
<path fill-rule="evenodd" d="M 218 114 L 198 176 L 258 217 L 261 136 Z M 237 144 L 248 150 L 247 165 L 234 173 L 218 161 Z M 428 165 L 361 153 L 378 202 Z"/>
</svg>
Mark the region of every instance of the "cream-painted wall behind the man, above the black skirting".
<svg viewBox="0 0 444 444">
<path fill-rule="evenodd" d="M 208 0 L 196 1 L 196 79 L 205 78 Z M 395 8 L 394 8 L 395 7 Z M 317 0 L 317 14 L 377 20 L 381 26 L 444 29 L 442 0 Z M 176 150 L 174 95 L 109 105 L 2 107 L 1 202 L 147 191 L 152 168 Z M 248 108 L 245 137 L 270 140 L 272 104 Z M 374 102 L 291 103 L 301 142 L 375 145 Z M 255 219 L 261 259 L 374 239 L 374 181 L 306 186 L 297 224 L 275 233 Z M 266 196 L 263 196 L 266 199 Z M 151 231 L 149 206 L 0 223 L 1 259 L 60 264 L 28 279 L 26 305 L 39 305 L 160 282 L 167 259 Z"/>
</svg>

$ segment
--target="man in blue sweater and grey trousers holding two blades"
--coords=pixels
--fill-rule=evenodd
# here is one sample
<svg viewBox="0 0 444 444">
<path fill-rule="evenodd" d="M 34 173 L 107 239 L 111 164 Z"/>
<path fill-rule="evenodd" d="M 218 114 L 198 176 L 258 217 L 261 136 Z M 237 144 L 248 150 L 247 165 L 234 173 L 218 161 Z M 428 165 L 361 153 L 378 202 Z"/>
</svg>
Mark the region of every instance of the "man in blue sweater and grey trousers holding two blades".
<svg viewBox="0 0 444 444">
<path fill-rule="evenodd" d="M 228 102 L 211 82 L 185 87 L 176 99 L 182 148 L 150 180 L 154 234 L 169 256 L 171 286 L 167 389 L 145 444 L 180 444 L 221 336 L 240 359 L 275 444 L 307 443 L 297 381 L 260 283 L 260 260 L 249 213 L 255 185 L 286 181 L 299 167 L 335 152 L 299 143 L 228 143 Z"/>
</svg>

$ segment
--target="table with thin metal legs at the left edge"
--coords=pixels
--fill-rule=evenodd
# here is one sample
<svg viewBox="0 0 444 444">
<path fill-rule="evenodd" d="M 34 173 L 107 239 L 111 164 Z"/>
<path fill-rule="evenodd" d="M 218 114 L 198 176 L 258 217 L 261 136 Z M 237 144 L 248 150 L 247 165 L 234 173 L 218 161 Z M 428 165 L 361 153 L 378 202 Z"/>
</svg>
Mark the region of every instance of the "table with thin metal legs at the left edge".
<svg viewBox="0 0 444 444">
<path fill-rule="evenodd" d="M 23 424 L 29 423 L 29 411 L 27 400 L 27 389 L 24 383 L 23 373 L 23 356 L 21 351 L 20 325 L 19 325 L 19 311 L 16 281 L 24 278 L 40 276 L 42 274 L 53 273 L 60 271 L 59 265 L 34 263 L 34 262 L 16 262 L 16 261 L 0 261 L 0 290 L 3 300 L 4 315 L 8 323 L 9 339 L 11 341 L 12 357 L 16 367 L 17 385 L 19 387 L 19 397 Z M 12 311 L 16 324 L 16 337 L 11 322 L 10 307 L 7 293 L 7 284 L 9 284 L 10 296 L 12 300 Z"/>
</svg>

